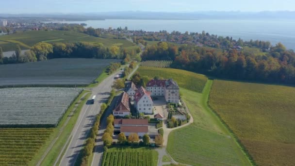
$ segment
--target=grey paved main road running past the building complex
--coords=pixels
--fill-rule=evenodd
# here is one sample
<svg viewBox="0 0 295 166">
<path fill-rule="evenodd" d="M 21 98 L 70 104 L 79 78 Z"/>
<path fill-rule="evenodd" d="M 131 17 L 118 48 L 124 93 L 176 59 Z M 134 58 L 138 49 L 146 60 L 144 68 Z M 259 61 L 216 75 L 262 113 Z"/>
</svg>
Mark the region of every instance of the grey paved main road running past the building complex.
<svg viewBox="0 0 295 166">
<path fill-rule="evenodd" d="M 76 125 L 70 135 L 71 140 L 69 146 L 66 149 L 64 156 L 61 159 L 60 166 L 74 166 L 80 150 L 84 146 L 87 134 L 91 130 L 95 122 L 95 117 L 100 111 L 101 103 L 105 102 L 110 96 L 111 86 L 114 82 L 116 72 L 103 80 L 97 87 L 90 89 L 92 96 L 96 95 L 96 101 L 94 104 L 88 104 L 83 106 L 80 116 L 76 122 Z M 92 98 L 92 96 L 90 98 Z"/>
</svg>

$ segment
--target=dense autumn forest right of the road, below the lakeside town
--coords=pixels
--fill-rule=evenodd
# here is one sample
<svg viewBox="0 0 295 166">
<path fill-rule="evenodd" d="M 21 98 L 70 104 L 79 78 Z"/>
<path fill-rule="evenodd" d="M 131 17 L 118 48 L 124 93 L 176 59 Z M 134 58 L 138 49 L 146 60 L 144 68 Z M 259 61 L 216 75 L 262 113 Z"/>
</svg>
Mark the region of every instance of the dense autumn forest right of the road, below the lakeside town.
<svg viewBox="0 0 295 166">
<path fill-rule="evenodd" d="M 171 67 L 227 79 L 295 83 L 295 52 L 278 43 L 264 55 L 243 51 L 176 46 L 159 42 L 146 48 L 143 60 L 173 60 Z"/>
</svg>

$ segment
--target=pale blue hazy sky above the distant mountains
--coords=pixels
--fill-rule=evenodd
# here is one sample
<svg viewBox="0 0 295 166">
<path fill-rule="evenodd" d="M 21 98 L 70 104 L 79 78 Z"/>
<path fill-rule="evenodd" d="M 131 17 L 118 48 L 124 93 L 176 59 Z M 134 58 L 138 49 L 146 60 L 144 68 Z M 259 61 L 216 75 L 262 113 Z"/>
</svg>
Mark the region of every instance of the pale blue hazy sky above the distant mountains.
<svg viewBox="0 0 295 166">
<path fill-rule="evenodd" d="M 0 0 L 0 13 L 295 11 L 295 0 Z"/>
</svg>

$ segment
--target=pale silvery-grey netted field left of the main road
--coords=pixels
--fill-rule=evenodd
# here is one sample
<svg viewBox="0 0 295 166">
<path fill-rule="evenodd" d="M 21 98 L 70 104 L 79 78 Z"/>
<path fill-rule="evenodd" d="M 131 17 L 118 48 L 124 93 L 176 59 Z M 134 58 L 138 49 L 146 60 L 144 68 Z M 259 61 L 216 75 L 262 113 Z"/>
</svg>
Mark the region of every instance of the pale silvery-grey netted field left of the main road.
<svg viewBox="0 0 295 166">
<path fill-rule="evenodd" d="M 80 88 L 0 89 L 0 126 L 54 127 Z"/>
</svg>

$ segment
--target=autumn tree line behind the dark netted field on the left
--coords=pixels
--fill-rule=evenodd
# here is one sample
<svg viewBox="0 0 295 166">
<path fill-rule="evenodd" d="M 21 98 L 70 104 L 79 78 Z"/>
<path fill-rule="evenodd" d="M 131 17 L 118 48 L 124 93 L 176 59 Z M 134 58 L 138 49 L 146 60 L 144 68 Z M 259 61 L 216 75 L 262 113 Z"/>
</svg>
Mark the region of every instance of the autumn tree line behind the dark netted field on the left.
<svg viewBox="0 0 295 166">
<path fill-rule="evenodd" d="M 53 58 L 97 58 L 97 59 L 123 59 L 128 63 L 131 59 L 141 60 L 135 50 L 126 50 L 117 46 L 110 48 L 102 44 L 76 43 L 37 43 L 31 50 L 21 53 L 17 45 L 11 57 L 4 57 L 0 47 L 0 64 L 14 64 L 43 61 Z"/>
</svg>

